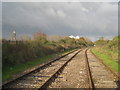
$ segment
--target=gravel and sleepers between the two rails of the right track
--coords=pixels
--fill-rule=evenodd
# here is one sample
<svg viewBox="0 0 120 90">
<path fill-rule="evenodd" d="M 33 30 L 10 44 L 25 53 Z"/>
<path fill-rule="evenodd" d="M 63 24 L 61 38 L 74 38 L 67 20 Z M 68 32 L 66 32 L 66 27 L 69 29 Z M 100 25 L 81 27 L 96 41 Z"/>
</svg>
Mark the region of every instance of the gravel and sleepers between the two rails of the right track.
<svg viewBox="0 0 120 90">
<path fill-rule="evenodd" d="M 116 78 L 90 50 L 87 51 L 87 56 L 95 88 L 118 88 L 118 78 Z"/>
</svg>

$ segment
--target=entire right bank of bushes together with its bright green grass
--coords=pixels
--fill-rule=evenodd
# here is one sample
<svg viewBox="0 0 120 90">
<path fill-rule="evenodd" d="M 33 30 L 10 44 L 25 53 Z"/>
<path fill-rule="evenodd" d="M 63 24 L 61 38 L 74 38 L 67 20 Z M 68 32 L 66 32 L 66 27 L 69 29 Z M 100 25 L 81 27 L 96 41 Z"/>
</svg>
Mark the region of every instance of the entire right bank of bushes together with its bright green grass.
<svg viewBox="0 0 120 90">
<path fill-rule="evenodd" d="M 120 73 L 120 61 L 118 55 L 120 54 L 119 44 L 120 35 L 114 37 L 112 40 L 97 40 L 95 47 L 92 49 L 99 58 L 103 60 L 111 69 Z"/>
</svg>

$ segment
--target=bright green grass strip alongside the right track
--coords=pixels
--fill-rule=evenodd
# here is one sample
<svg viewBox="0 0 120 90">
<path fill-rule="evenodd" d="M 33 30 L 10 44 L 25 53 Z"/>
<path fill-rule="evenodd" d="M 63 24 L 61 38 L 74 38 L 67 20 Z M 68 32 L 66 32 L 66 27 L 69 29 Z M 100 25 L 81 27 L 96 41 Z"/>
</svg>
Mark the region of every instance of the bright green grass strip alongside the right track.
<svg viewBox="0 0 120 90">
<path fill-rule="evenodd" d="M 118 69 L 120 68 L 120 65 L 118 65 L 118 63 L 106 53 L 101 53 L 100 51 L 97 51 L 95 49 L 92 49 L 92 52 L 96 54 L 99 58 L 101 58 L 103 62 L 107 64 L 111 69 L 113 69 L 116 72 L 120 72 L 120 70 Z"/>
</svg>

